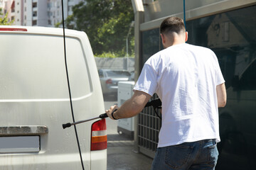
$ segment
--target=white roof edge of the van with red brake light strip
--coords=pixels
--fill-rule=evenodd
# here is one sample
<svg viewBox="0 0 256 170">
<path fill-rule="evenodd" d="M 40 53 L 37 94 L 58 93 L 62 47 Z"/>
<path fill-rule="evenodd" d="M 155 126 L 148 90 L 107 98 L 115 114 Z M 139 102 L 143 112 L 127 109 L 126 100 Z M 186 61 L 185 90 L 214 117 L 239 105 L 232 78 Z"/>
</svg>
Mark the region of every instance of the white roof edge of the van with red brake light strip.
<svg viewBox="0 0 256 170">
<path fill-rule="evenodd" d="M 6 28 L 6 29 L 5 29 Z M 46 35 L 63 35 L 63 28 L 50 28 L 40 26 L 0 26 L 0 33 L 35 33 Z M 66 36 L 74 36 L 85 34 L 85 32 L 78 30 L 65 29 Z"/>
</svg>

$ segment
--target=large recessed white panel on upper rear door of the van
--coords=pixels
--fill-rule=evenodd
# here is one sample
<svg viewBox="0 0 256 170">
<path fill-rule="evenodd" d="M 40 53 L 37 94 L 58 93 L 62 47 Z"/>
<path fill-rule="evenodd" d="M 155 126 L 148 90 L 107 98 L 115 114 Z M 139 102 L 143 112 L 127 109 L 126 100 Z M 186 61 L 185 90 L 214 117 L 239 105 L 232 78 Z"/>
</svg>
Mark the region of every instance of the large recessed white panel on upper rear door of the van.
<svg viewBox="0 0 256 170">
<path fill-rule="evenodd" d="M 1 33 L 0 99 L 69 98 L 63 37 Z M 85 55 L 80 40 L 66 38 L 73 98 L 90 93 Z"/>
</svg>

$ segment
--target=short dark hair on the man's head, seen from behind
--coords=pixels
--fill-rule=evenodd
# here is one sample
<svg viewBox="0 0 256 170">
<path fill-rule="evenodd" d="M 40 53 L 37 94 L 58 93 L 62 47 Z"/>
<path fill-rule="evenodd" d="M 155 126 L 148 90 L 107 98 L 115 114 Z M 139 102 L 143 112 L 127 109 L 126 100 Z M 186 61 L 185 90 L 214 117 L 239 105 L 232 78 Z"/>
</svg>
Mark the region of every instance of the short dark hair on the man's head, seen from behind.
<svg viewBox="0 0 256 170">
<path fill-rule="evenodd" d="M 183 19 L 178 17 L 166 18 L 160 26 L 160 33 L 167 34 L 171 32 L 180 33 L 181 30 L 186 31 Z"/>
</svg>

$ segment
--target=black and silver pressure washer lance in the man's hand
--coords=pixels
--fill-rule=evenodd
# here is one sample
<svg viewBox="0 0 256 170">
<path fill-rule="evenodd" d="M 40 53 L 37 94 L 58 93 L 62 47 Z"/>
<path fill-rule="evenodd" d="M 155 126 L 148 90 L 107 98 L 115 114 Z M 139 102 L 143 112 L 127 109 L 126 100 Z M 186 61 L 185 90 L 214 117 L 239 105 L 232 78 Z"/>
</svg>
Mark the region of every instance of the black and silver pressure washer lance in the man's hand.
<svg viewBox="0 0 256 170">
<path fill-rule="evenodd" d="M 152 101 L 149 101 L 148 103 L 146 103 L 145 108 L 149 107 L 149 106 L 153 106 L 154 108 L 158 108 L 159 106 L 161 106 L 161 100 L 159 98 L 156 98 Z M 117 111 L 117 109 L 115 109 L 113 112 L 115 112 L 115 111 Z M 65 123 L 65 124 L 63 124 L 63 129 L 69 128 L 70 126 L 77 125 L 79 123 L 85 123 L 85 122 L 88 122 L 90 120 L 95 120 L 97 118 L 102 119 L 102 118 L 107 118 L 107 117 L 108 117 L 107 113 L 102 113 L 100 116 L 97 116 L 95 118 L 90 118 L 90 119 L 87 119 L 87 120 L 80 120 L 80 121 L 74 122 L 74 123 Z"/>
</svg>

